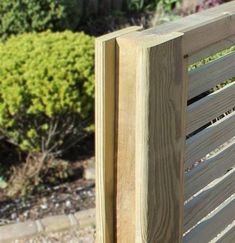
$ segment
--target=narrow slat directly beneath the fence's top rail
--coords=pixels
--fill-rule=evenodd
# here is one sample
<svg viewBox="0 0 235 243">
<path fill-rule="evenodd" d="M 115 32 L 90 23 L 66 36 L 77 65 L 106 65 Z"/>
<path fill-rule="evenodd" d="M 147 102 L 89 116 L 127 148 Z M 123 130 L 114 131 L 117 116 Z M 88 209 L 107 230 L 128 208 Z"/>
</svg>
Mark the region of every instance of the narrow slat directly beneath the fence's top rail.
<svg viewBox="0 0 235 243">
<path fill-rule="evenodd" d="M 193 64 L 195 62 L 201 61 L 202 59 L 212 56 L 217 52 L 223 51 L 235 45 L 235 36 L 230 36 L 227 39 L 216 42 L 210 46 L 202 48 L 200 51 L 193 53 L 188 58 L 188 63 Z"/>
</svg>

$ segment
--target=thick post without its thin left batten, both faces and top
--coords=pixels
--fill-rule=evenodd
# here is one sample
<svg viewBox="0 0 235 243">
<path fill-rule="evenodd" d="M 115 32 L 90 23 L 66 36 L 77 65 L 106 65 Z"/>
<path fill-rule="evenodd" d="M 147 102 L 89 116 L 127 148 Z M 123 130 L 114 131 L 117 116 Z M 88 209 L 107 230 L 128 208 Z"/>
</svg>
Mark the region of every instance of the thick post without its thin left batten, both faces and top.
<svg viewBox="0 0 235 243">
<path fill-rule="evenodd" d="M 179 243 L 187 64 L 183 34 L 117 38 L 116 240 Z"/>
</svg>

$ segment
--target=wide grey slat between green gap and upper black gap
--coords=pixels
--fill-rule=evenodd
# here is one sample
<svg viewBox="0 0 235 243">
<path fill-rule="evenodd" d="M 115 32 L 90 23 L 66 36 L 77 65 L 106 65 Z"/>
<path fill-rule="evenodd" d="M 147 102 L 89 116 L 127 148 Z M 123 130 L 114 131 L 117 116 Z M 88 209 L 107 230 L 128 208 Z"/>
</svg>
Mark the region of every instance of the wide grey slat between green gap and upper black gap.
<svg viewBox="0 0 235 243">
<path fill-rule="evenodd" d="M 191 99 L 217 84 L 235 76 L 235 52 L 211 61 L 189 72 L 189 94 Z"/>
</svg>

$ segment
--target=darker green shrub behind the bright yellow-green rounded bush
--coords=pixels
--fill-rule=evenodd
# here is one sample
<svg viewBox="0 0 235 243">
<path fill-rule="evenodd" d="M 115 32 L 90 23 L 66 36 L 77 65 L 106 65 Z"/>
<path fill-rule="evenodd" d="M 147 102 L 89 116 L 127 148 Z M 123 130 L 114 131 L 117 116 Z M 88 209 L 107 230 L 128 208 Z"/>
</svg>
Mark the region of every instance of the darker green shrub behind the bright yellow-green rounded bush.
<svg viewBox="0 0 235 243">
<path fill-rule="evenodd" d="M 0 37 L 47 29 L 74 30 L 81 16 L 80 0 L 0 1 Z"/>
</svg>

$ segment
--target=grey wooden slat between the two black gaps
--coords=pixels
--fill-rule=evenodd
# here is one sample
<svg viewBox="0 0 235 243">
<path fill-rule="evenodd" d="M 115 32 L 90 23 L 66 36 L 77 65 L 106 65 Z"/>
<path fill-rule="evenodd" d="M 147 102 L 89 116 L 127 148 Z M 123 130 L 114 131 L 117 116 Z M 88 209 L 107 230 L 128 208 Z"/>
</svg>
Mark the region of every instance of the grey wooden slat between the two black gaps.
<svg viewBox="0 0 235 243">
<path fill-rule="evenodd" d="M 235 107 L 235 82 L 187 108 L 187 134 Z"/>
</svg>

